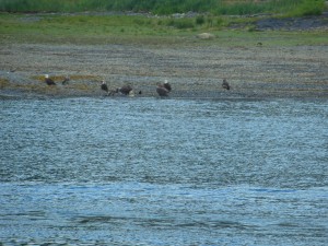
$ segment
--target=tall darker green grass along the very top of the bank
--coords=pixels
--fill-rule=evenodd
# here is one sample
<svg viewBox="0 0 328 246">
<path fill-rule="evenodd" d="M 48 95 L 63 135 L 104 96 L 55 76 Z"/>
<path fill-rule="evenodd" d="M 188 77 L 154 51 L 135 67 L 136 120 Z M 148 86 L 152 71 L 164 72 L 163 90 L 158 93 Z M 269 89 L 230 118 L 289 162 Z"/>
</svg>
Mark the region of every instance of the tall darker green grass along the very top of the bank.
<svg viewBox="0 0 328 246">
<path fill-rule="evenodd" d="M 3 12 L 133 11 L 154 14 L 189 11 L 216 15 L 283 13 L 320 14 L 325 0 L 0 0 Z"/>
</svg>

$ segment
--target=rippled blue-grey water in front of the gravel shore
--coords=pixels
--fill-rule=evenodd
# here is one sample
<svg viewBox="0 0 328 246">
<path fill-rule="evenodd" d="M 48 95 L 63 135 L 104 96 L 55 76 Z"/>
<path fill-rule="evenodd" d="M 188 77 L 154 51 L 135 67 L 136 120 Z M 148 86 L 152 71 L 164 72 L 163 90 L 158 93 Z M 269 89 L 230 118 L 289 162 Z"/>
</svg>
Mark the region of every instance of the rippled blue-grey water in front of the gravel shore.
<svg viewBox="0 0 328 246">
<path fill-rule="evenodd" d="M 328 244 L 327 101 L 0 109 L 2 245 Z"/>
</svg>

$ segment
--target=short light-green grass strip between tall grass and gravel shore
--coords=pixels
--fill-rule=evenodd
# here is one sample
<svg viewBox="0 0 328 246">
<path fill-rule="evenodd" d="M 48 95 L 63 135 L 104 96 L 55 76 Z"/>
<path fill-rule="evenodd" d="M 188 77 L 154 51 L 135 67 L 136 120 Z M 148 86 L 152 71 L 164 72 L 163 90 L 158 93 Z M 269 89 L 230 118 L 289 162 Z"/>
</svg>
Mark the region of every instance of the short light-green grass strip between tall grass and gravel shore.
<svg viewBox="0 0 328 246">
<path fill-rule="evenodd" d="M 328 45 L 327 32 L 255 32 L 249 17 L 188 19 L 85 14 L 0 14 L 1 43 L 265 46 Z M 231 22 L 245 28 L 225 28 Z M 254 32 L 251 32 L 254 31 Z M 201 40 L 199 33 L 218 38 Z"/>
</svg>

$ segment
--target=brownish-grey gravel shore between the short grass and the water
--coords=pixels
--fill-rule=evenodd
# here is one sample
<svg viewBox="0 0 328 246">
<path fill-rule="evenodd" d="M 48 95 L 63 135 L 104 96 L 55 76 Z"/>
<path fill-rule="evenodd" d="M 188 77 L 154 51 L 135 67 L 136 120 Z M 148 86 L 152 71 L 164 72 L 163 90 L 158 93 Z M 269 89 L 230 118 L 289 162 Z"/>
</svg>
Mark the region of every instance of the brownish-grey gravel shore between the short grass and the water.
<svg viewBox="0 0 328 246">
<path fill-rule="evenodd" d="M 0 57 L 1 97 L 102 96 L 103 79 L 112 89 L 131 84 L 138 96 L 156 96 L 156 83 L 168 80 L 171 97 L 328 97 L 327 46 L 4 44 Z"/>
</svg>

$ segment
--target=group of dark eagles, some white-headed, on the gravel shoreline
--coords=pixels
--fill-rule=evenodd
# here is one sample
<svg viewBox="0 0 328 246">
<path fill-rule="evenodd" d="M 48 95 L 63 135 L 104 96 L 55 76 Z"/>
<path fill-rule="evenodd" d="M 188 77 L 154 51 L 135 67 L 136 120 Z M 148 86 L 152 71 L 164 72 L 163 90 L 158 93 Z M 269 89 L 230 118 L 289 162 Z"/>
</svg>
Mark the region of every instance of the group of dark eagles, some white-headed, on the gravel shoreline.
<svg viewBox="0 0 328 246">
<path fill-rule="evenodd" d="M 69 80 L 70 80 L 70 78 L 66 77 L 61 83 L 62 84 L 68 84 Z M 49 78 L 48 74 L 45 75 L 45 82 L 48 85 L 56 85 L 55 81 L 51 78 Z M 226 79 L 223 79 L 222 87 L 225 89 L 225 90 L 230 90 L 230 85 L 226 82 Z M 124 85 L 124 86 L 118 87 L 116 90 L 110 90 L 109 91 L 109 89 L 108 89 L 108 86 L 107 86 L 107 84 L 104 80 L 102 82 L 101 89 L 103 91 L 107 92 L 108 95 L 114 95 L 115 93 L 120 93 L 122 95 L 130 95 L 132 93 L 132 90 L 133 90 L 131 85 Z M 167 80 L 165 80 L 164 83 L 159 83 L 157 84 L 156 92 L 160 96 L 168 96 L 171 91 L 172 91 L 172 86 L 167 82 Z M 138 94 L 142 94 L 142 92 L 139 91 Z"/>
</svg>

